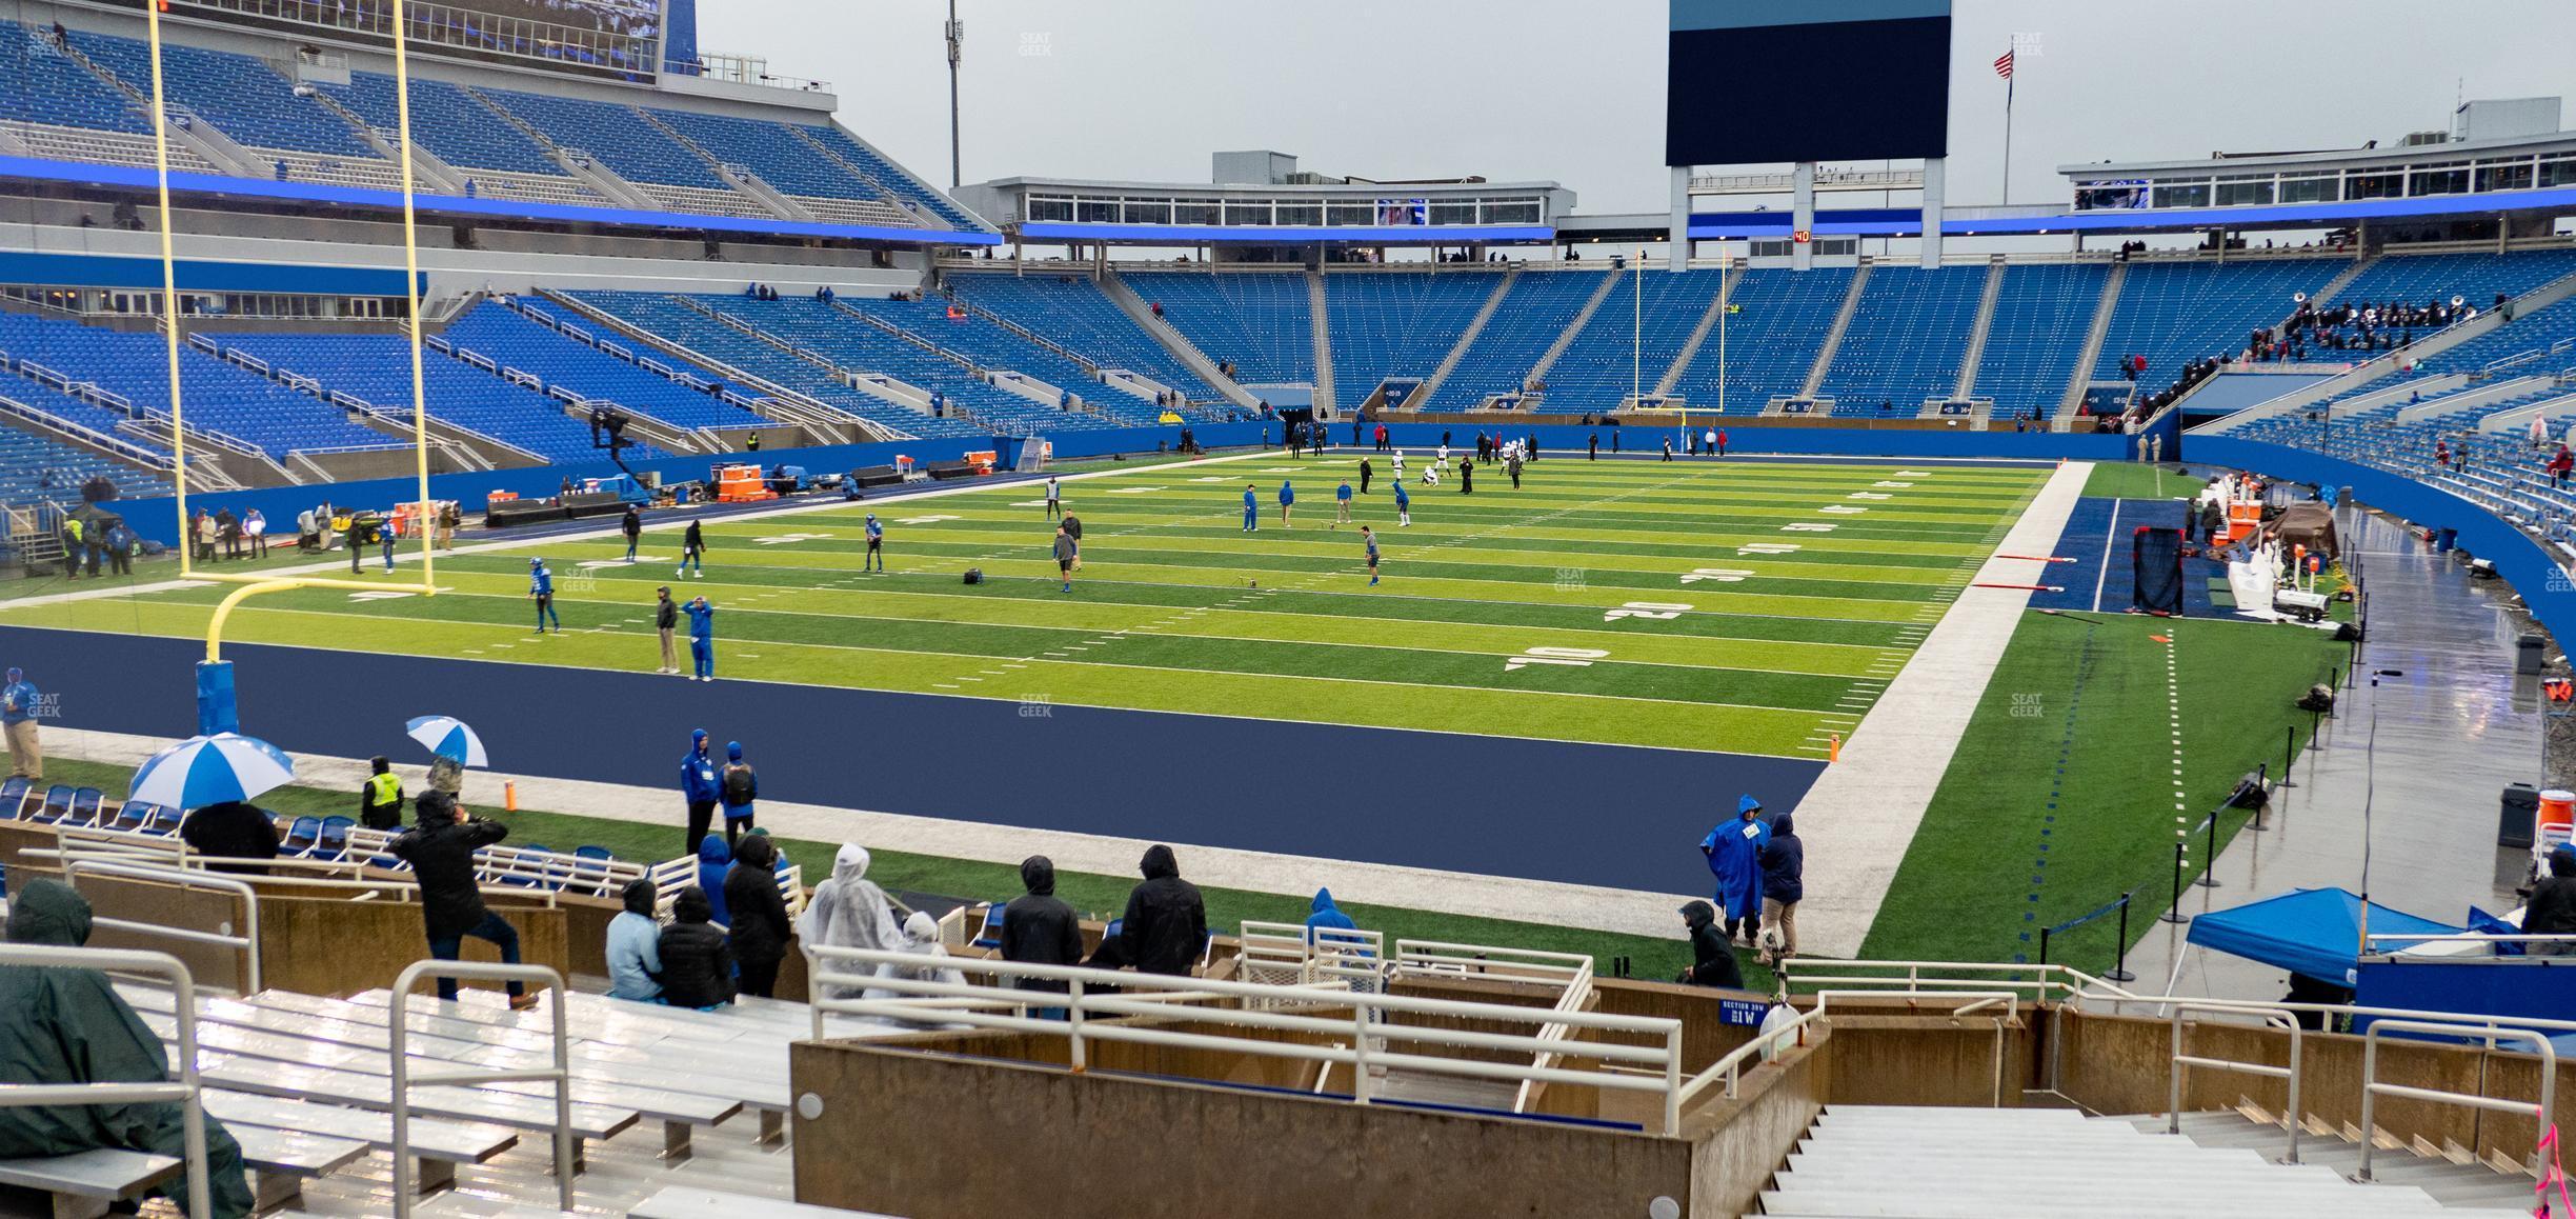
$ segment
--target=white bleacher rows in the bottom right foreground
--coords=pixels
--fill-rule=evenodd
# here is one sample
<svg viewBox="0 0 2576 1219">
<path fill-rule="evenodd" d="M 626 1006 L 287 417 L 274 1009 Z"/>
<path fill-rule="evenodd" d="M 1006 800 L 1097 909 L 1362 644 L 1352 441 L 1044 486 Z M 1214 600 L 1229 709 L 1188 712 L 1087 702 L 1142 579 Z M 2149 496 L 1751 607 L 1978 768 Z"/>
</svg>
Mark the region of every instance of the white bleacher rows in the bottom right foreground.
<svg viewBox="0 0 2576 1219">
<path fill-rule="evenodd" d="M 2218 1118 L 2244 1124 L 2233 1113 Z M 2161 1126 L 2161 1118 L 2146 1121 Z M 1826 1106 L 1772 1178 L 1772 1188 L 1762 1191 L 1762 1214 L 1888 1219 L 2527 1214 L 2501 1201 L 2483 1209 L 2445 1209 L 2416 1183 L 2365 1185 L 2316 1162 L 2275 1165 L 2277 1152 L 2257 1144 L 2202 1144 L 2151 1134 L 2146 1121 L 2087 1118 L 2074 1108 Z M 2259 1134 L 2282 1139 L 2277 1129 Z M 2483 1167 L 2473 1173 L 2506 1180 Z"/>
</svg>

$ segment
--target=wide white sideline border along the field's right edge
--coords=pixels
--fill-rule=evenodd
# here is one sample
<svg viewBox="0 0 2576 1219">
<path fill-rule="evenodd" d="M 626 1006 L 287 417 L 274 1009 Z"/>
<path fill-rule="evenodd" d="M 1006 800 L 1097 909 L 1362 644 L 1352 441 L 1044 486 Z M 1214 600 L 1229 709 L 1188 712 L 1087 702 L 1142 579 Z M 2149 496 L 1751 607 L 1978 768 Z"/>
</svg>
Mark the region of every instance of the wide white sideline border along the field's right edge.
<svg viewBox="0 0 2576 1219">
<path fill-rule="evenodd" d="M 2089 461 L 2058 466 L 1996 552 L 2048 554 L 2084 497 L 2087 477 Z M 1978 580 L 2027 582 L 2027 567 L 2009 564 L 2017 559 L 1986 559 Z M 2030 593 L 2020 588 L 1960 593 L 1868 719 L 1844 737 L 1842 760 L 1826 765 L 1798 801 L 1798 838 L 1806 840 L 1801 951 L 1860 954 L 2027 606 Z"/>
</svg>

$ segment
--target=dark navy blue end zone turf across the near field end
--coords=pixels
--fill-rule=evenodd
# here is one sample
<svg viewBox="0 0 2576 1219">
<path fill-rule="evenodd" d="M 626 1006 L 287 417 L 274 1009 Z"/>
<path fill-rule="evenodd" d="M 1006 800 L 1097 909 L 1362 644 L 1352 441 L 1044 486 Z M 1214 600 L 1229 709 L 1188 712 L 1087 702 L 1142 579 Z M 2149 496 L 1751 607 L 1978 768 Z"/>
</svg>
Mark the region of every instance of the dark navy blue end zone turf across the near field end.
<svg viewBox="0 0 2576 1219">
<path fill-rule="evenodd" d="M 198 642 L 0 626 L 0 652 L 49 657 L 59 727 L 173 737 L 196 724 Z M 309 647 L 229 644 L 224 660 L 252 737 L 410 765 L 425 758 L 386 750 L 404 719 L 456 714 L 495 771 L 667 791 L 636 812 L 670 825 L 672 856 L 693 727 L 788 758 L 762 763 L 768 799 L 1685 894 L 1708 892 L 1695 848 L 1736 794 L 1793 809 L 1824 771 L 1801 758 L 1061 704 L 1023 714 L 999 698 Z"/>
</svg>

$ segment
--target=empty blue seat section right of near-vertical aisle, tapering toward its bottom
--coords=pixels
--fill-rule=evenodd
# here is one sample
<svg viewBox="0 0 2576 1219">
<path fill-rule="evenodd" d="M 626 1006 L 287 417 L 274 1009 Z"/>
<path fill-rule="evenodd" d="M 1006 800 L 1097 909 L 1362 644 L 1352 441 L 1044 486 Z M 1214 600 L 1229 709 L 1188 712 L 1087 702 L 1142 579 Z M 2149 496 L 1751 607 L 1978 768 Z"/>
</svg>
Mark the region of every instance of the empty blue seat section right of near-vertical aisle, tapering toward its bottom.
<svg viewBox="0 0 2576 1219">
<path fill-rule="evenodd" d="M 1388 376 L 1430 376 L 1502 283 L 1492 271 L 1324 276 L 1332 392 L 1358 407 Z"/>
</svg>

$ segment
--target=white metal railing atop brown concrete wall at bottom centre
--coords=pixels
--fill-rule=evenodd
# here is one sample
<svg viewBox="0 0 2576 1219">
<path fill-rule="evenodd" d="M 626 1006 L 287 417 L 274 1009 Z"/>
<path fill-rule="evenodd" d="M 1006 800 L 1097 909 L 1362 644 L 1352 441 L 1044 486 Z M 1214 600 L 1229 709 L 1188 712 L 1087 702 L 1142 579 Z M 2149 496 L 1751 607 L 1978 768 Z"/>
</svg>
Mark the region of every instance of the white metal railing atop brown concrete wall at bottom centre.
<svg viewBox="0 0 2576 1219">
<path fill-rule="evenodd" d="M 827 1013 L 842 1015 L 868 1015 L 881 1021 L 902 1021 L 914 1026 L 974 1026 L 974 1028 L 1002 1028 L 1015 1033 L 1038 1036 L 1064 1036 L 1069 1041 L 1069 1062 L 1074 1070 L 1087 1067 L 1090 1041 L 1131 1041 L 1149 1046 L 1180 1046 L 1180 1049 L 1211 1049 L 1226 1054 L 1262 1054 L 1301 1062 L 1342 1064 L 1352 1077 L 1352 1103 L 1370 1103 L 1373 1075 L 1386 1070 L 1422 1072 L 1422 1075 L 1448 1075 L 1466 1080 L 1502 1080 L 1502 1082 L 1564 1082 L 1579 1088 L 1605 1088 L 1628 1093 L 1659 1093 L 1662 1098 L 1662 1131 L 1672 1134 L 1680 1129 L 1680 1098 L 1682 1098 L 1682 1021 L 1654 1018 L 1654 1015 L 1607 1015 L 1607 1013 L 1556 1013 L 1548 1008 L 1515 1008 L 1499 1003 L 1463 1003 L 1463 1000 L 1425 1000 L 1425 997 L 1399 997 L 1399 995 L 1373 995 L 1342 987 L 1267 987 L 1257 982 L 1226 982 L 1226 979 L 1200 979 L 1200 977 L 1164 977 L 1164 974 L 1133 974 L 1113 969 L 1084 969 L 1084 966 L 1054 966 L 1054 964 L 1023 964 L 1023 961 L 989 961 L 971 956 L 920 956 L 899 951 L 866 951 L 866 948 L 827 948 L 806 946 L 806 959 L 811 964 L 809 977 L 817 995 L 827 995 L 827 987 L 858 987 L 863 997 L 855 1000 L 814 1000 L 814 1036 L 822 1039 L 822 1023 Z M 878 977 L 876 966 L 896 966 L 894 974 Z M 853 966 L 866 966 L 868 972 L 855 972 Z M 961 974 L 989 974 L 994 984 L 976 982 L 935 982 L 904 977 L 904 969 L 956 969 Z M 1012 982 L 1064 982 L 1064 992 L 1020 990 Z M 1092 987 L 1113 987 L 1121 995 L 1100 995 Z M 871 997 L 876 995 L 876 997 Z M 1288 1010 L 1249 1010 L 1249 1008 L 1188 1008 L 1175 1013 L 1172 1000 L 1180 995 L 1208 997 L 1208 1000 L 1252 1000 L 1275 1003 L 1283 995 L 1306 997 L 1306 1010 L 1332 1010 L 1350 1008 L 1350 1015 L 1301 1015 Z M 1064 1010 L 1061 1021 L 1046 1015 L 1030 1015 L 1038 1010 Z M 1188 1021 L 1211 1026 L 1206 1033 L 1185 1033 L 1175 1028 L 1144 1028 L 1131 1023 L 1118 1023 L 1121 1015 L 1185 1015 Z M 1548 1041 L 1540 1036 L 1522 1033 L 1484 1033 L 1468 1028 L 1419 1028 L 1394 1023 L 1396 1015 L 1437 1015 L 1453 1021 L 1484 1021 L 1484 1023 L 1564 1023 L 1569 1028 L 1597 1031 L 1597 1033 L 1643 1033 L 1659 1036 L 1659 1046 L 1631 1046 L 1615 1041 Z M 1105 1023 L 1108 1021 L 1108 1023 Z M 1252 1031 L 1278 1031 L 1278 1033 L 1314 1033 L 1324 1044 L 1301 1041 L 1270 1041 L 1249 1036 Z M 1229 1036 L 1234 1033 L 1234 1036 Z M 1569 1070 L 1569 1067 L 1535 1067 L 1515 1062 L 1471 1062 L 1471 1059 L 1445 1059 L 1419 1051 L 1383 1049 L 1386 1044 L 1406 1041 L 1425 1046 L 1453 1046 L 1453 1049 L 1484 1049 L 1507 1054 L 1546 1054 L 1561 1051 L 1564 1057 L 1595 1059 L 1602 1070 Z M 1607 1067 L 1625 1070 L 1607 1070 Z"/>
</svg>

